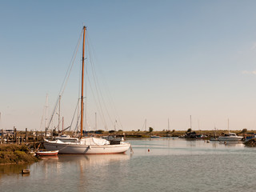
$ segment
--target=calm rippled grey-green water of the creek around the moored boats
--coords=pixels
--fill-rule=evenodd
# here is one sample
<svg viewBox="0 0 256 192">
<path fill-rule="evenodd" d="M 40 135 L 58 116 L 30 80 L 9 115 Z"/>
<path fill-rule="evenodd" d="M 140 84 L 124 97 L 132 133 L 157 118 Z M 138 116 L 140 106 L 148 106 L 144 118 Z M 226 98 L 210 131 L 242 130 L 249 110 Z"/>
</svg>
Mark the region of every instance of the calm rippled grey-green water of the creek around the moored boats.
<svg viewBox="0 0 256 192">
<path fill-rule="evenodd" d="M 256 148 L 173 138 L 129 140 L 134 154 L 58 155 L 0 166 L 0 191 L 255 191 Z M 148 151 L 150 150 L 150 151 Z"/>
</svg>

